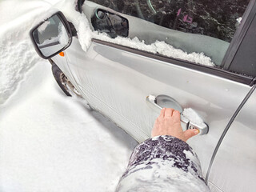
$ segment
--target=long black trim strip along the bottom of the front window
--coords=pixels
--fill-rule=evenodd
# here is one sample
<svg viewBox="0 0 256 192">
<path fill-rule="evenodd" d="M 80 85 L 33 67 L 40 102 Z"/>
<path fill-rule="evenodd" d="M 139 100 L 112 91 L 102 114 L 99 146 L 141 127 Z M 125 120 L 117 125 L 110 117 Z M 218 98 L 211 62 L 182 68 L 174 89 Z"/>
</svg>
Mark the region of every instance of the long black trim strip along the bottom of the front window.
<svg viewBox="0 0 256 192">
<path fill-rule="evenodd" d="M 241 82 L 241 83 L 246 84 L 246 85 L 250 85 L 251 82 L 253 81 L 253 78 L 251 78 L 251 77 L 247 77 L 247 76 L 244 76 L 242 74 L 234 74 L 232 72 L 222 70 L 222 69 L 219 69 L 217 67 L 203 66 L 203 65 L 199 65 L 199 64 L 195 64 L 195 63 L 186 62 L 186 61 L 176 59 L 176 58 L 175 59 L 174 58 L 167 58 L 167 57 L 162 56 L 160 54 L 152 54 L 152 53 L 146 52 L 144 50 L 136 50 L 134 48 L 117 45 L 117 44 L 114 44 L 112 42 L 104 42 L 104 41 L 96 39 L 96 38 L 93 38 L 92 42 L 96 42 L 96 43 L 99 43 L 99 44 L 102 44 L 102 45 L 105 45 L 105 46 L 111 46 L 111 47 L 117 48 L 119 50 L 125 50 L 125 51 L 131 52 L 133 54 L 139 54 L 139 55 L 142 55 L 142 56 L 145 56 L 145 57 L 148 57 L 148 58 L 158 59 L 162 62 L 169 62 L 169 63 L 177 65 L 177 66 L 184 66 L 186 68 L 189 68 L 189 69 L 192 69 L 192 70 L 198 70 L 198 71 L 204 72 L 206 74 L 213 74 L 213 75 L 216 75 L 218 77 L 227 78 L 227 79 L 230 79 L 232 81 Z"/>
</svg>

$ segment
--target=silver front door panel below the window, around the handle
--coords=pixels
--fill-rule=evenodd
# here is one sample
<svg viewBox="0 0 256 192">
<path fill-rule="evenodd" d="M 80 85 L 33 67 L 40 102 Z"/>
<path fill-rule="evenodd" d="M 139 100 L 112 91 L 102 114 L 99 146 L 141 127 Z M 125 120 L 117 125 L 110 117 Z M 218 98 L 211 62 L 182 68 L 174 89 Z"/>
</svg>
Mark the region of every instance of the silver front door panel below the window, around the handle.
<svg viewBox="0 0 256 192">
<path fill-rule="evenodd" d="M 77 39 L 66 50 L 68 65 L 79 89 L 95 109 L 142 142 L 158 113 L 146 105 L 146 96 L 165 94 L 183 108 L 196 110 L 210 127 L 209 134 L 191 138 L 203 173 L 214 148 L 250 86 L 146 58 L 93 42 L 85 53 Z"/>
</svg>

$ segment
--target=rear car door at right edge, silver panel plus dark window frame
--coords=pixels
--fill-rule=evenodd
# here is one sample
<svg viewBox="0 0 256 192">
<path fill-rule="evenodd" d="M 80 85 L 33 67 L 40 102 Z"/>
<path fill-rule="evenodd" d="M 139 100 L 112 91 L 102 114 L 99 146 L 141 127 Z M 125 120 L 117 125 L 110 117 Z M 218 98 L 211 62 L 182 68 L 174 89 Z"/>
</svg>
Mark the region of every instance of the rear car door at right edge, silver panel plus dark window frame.
<svg viewBox="0 0 256 192">
<path fill-rule="evenodd" d="M 252 6 L 251 15 L 256 13 Z M 233 62 L 225 68 L 256 76 L 256 18 L 247 18 L 248 28 Z M 228 59 L 229 60 L 229 59 Z M 230 66 L 229 66 L 230 65 Z M 254 191 L 256 188 L 256 92 L 255 83 L 226 126 L 208 169 L 207 179 L 214 191 Z M 216 155 L 216 156 L 215 156 Z"/>
</svg>

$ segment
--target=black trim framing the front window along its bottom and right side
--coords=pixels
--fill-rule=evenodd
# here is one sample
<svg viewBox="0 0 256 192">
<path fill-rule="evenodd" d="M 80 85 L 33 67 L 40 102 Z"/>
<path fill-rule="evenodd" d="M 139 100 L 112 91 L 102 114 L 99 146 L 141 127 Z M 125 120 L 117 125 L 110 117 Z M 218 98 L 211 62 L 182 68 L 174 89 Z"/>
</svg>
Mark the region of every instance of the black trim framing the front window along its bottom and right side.
<svg viewBox="0 0 256 192">
<path fill-rule="evenodd" d="M 238 28 L 238 30 L 234 34 L 234 38 L 230 42 L 230 46 L 228 50 L 226 51 L 226 54 L 223 58 L 222 65 L 220 68 L 218 67 L 211 67 L 211 66 L 203 66 L 199 65 L 193 62 L 187 62 L 182 59 L 177 58 L 168 58 L 166 56 L 162 56 L 160 54 L 152 54 L 149 52 L 146 52 L 144 50 L 136 50 L 134 48 L 130 48 L 127 46 L 120 46 L 117 44 L 114 44 L 112 42 L 104 42 L 102 40 L 98 40 L 93 38 L 92 42 L 96 42 L 105 46 L 111 46 L 120 50 L 125 50 L 134 54 L 139 54 L 145 57 L 158 59 L 163 62 L 169 62 L 174 65 L 178 66 L 184 66 L 186 68 L 192 69 L 192 70 L 198 70 L 207 74 L 213 74 L 221 78 L 226 78 L 235 82 L 241 82 L 243 84 L 253 86 L 256 83 L 256 78 L 246 76 L 246 74 L 236 74 L 235 72 L 229 71 L 230 66 L 232 65 L 232 62 L 234 61 L 235 54 L 237 53 L 239 46 L 242 43 L 243 38 L 246 36 L 246 32 L 250 27 L 250 24 L 253 22 L 254 16 L 256 14 L 256 0 L 250 0 L 246 12 L 244 14 L 244 17 L 242 19 L 241 26 Z M 76 0 L 78 11 L 82 12 L 82 4 L 85 2 L 85 0 Z"/>
</svg>

